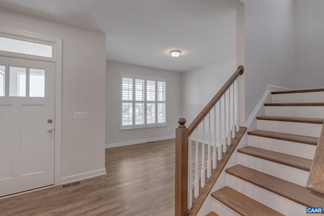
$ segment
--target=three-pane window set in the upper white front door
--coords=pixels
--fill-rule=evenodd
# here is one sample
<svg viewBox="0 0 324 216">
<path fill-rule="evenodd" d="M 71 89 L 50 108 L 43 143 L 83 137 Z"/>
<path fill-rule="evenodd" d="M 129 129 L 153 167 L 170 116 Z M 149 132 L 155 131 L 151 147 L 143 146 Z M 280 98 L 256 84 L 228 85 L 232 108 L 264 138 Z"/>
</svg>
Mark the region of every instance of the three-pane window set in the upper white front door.
<svg viewBox="0 0 324 216">
<path fill-rule="evenodd" d="M 0 65 L 0 97 L 5 96 L 45 97 L 45 70 Z"/>
</svg>

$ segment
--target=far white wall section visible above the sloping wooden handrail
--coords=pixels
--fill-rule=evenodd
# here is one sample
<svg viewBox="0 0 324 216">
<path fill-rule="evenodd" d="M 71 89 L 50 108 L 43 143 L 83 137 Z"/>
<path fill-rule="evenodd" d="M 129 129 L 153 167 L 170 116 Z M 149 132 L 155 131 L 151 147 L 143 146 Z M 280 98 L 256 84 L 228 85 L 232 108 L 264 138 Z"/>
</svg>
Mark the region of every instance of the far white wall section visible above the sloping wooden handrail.
<svg viewBox="0 0 324 216">
<path fill-rule="evenodd" d="M 236 71 L 236 58 L 217 62 L 181 74 L 182 115 L 186 126 L 199 114 Z"/>
</svg>

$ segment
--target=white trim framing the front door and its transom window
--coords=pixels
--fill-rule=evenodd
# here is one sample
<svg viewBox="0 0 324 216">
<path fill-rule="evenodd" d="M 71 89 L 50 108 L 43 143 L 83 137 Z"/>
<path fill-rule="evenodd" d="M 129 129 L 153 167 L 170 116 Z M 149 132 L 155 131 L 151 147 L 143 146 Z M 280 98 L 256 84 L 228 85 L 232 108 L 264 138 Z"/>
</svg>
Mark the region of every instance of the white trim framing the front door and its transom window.
<svg viewBox="0 0 324 216">
<path fill-rule="evenodd" d="M 49 35 L 38 34 L 20 29 L 0 26 L 1 35 L 25 38 L 27 40 L 46 42 L 53 45 L 53 57 L 36 57 L 0 51 L 0 56 L 24 58 L 55 63 L 55 138 L 54 138 L 54 184 L 61 185 L 61 149 L 62 149 L 62 47 L 63 39 Z"/>
</svg>

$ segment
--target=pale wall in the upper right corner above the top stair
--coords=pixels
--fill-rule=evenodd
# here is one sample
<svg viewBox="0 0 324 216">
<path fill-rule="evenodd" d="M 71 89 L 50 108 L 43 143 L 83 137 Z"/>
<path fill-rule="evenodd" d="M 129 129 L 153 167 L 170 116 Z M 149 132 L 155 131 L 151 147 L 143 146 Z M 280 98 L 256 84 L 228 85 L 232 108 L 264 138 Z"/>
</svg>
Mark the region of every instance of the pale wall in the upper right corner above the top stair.
<svg viewBox="0 0 324 216">
<path fill-rule="evenodd" d="M 323 87 L 324 1 L 295 0 L 296 89 Z"/>
</svg>

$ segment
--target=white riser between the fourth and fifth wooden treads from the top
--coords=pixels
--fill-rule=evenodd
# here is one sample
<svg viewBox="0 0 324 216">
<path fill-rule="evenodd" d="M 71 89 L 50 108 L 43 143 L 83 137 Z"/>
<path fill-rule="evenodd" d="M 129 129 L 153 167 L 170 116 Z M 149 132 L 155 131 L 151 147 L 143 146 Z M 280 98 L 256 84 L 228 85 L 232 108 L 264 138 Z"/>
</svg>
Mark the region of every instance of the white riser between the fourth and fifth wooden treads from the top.
<svg viewBox="0 0 324 216">
<path fill-rule="evenodd" d="M 284 154 L 290 154 L 311 160 L 314 158 L 316 146 L 313 145 L 295 143 L 285 140 L 276 140 L 266 137 L 257 137 L 252 135 L 248 135 L 248 137 L 249 146 L 276 151 Z"/>
</svg>

